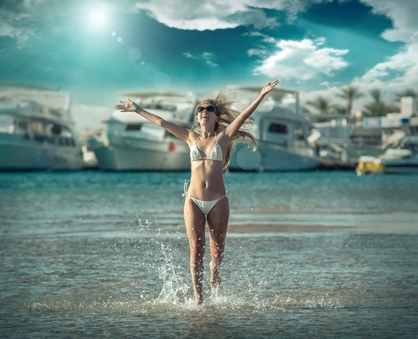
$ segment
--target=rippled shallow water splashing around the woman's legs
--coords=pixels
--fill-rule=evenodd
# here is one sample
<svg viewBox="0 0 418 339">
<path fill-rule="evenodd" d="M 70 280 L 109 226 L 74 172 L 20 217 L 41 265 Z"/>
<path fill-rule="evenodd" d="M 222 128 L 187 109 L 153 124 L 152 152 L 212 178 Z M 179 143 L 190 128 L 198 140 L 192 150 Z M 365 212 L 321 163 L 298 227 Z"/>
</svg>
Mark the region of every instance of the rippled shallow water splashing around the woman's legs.
<svg viewBox="0 0 418 339">
<path fill-rule="evenodd" d="M 416 178 L 226 175 L 222 287 L 207 250 L 196 308 L 187 176 L 0 174 L 0 337 L 417 338 Z"/>
</svg>

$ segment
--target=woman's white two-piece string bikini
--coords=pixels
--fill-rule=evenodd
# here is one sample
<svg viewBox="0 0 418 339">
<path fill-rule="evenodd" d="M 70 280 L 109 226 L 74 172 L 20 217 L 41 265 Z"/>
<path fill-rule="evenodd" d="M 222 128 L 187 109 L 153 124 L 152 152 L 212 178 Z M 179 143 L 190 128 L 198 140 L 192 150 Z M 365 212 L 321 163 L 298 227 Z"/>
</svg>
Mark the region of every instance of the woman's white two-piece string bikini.
<svg viewBox="0 0 418 339">
<path fill-rule="evenodd" d="M 197 141 L 200 139 L 201 136 L 202 135 L 199 135 L 199 137 L 196 139 L 196 142 L 194 142 L 193 146 L 190 148 L 190 162 L 197 161 L 197 160 L 203 160 L 203 159 L 208 159 L 208 160 L 213 160 L 213 161 L 224 161 L 223 160 L 223 155 L 222 155 L 222 148 L 221 148 L 221 145 L 219 145 L 218 142 L 217 142 L 216 133 L 215 133 L 215 141 L 216 142 L 215 142 L 215 145 L 213 145 L 212 150 L 210 151 L 210 155 L 209 155 L 208 158 L 203 157 L 202 154 L 201 154 L 201 151 L 197 147 Z M 205 216 L 207 216 L 209 214 L 209 212 L 212 210 L 213 206 L 215 206 L 216 203 L 219 202 L 220 199 L 222 199 L 223 197 L 228 197 L 228 195 L 229 195 L 229 184 L 230 183 L 228 183 L 228 189 L 226 190 L 226 193 L 224 195 L 222 195 L 222 197 L 219 197 L 218 199 L 210 200 L 210 201 L 199 200 L 199 199 L 196 199 L 196 198 L 190 196 L 189 193 L 187 192 L 189 183 L 190 183 L 190 181 L 188 181 L 188 180 L 185 181 L 185 186 L 184 186 L 185 193 L 183 193 L 183 197 L 189 197 L 190 199 L 192 199 L 194 201 L 194 203 L 199 207 L 199 209 L 202 211 L 202 213 Z"/>
</svg>

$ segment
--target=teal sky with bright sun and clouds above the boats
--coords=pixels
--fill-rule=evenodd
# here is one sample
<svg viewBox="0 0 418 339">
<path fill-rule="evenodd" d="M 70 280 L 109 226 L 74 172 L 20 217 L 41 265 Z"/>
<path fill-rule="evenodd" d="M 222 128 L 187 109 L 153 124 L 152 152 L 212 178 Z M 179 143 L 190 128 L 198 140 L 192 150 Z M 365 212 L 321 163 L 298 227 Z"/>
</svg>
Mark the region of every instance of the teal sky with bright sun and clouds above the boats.
<svg viewBox="0 0 418 339">
<path fill-rule="evenodd" d="M 354 84 L 390 102 L 418 90 L 417 16 L 417 0 L 0 0 L 0 84 L 69 91 L 81 128 L 127 91 L 278 79 L 302 101 Z"/>
</svg>

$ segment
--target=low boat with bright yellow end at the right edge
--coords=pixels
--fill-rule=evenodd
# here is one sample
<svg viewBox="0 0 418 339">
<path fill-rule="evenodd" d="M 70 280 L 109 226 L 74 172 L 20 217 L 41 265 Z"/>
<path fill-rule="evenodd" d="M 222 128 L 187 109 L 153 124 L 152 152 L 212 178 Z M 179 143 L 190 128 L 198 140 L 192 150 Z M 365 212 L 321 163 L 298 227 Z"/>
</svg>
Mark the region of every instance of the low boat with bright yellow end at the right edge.
<svg viewBox="0 0 418 339">
<path fill-rule="evenodd" d="M 378 157 L 361 156 L 356 168 L 358 176 L 365 174 L 418 174 L 418 136 L 405 135 L 387 145 Z"/>
</svg>

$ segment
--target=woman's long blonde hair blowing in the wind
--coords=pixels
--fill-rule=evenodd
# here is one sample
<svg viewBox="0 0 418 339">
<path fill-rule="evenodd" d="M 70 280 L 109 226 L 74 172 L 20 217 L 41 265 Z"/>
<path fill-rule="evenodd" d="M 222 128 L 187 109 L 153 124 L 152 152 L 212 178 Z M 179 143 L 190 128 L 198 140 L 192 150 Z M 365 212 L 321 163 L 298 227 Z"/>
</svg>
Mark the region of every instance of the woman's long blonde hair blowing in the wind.
<svg viewBox="0 0 418 339">
<path fill-rule="evenodd" d="M 217 133 L 229 126 L 229 124 L 240 115 L 240 108 L 242 108 L 242 104 L 238 100 L 234 98 L 228 98 L 224 91 L 217 93 L 217 96 L 215 96 L 215 98 L 206 98 L 202 100 L 197 107 L 203 104 L 209 104 L 215 107 L 215 114 L 218 116 L 218 121 L 215 123 L 215 132 Z M 197 119 L 197 112 L 195 112 L 194 117 L 195 119 Z M 224 168 L 228 166 L 229 160 L 231 160 L 231 153 L 233 151 L 233 147 L 238 142 L 253 144 L 253 151 L 257 149 L 258 142 L 256 140 L 256 137 L 249 133 L 249 130 L 246 126 L 251 123 L 253 123 L 251 119 L 245 120 L 240 130 L 238 130 L 238 133 L 236 133 L 230 140 L 228 151 L 226 152 Z M 192 126 L 192 129 L 201 132 L 199 123 L 194 124 L 194 126 Z"/>
</svg>

